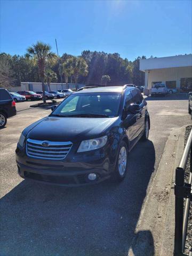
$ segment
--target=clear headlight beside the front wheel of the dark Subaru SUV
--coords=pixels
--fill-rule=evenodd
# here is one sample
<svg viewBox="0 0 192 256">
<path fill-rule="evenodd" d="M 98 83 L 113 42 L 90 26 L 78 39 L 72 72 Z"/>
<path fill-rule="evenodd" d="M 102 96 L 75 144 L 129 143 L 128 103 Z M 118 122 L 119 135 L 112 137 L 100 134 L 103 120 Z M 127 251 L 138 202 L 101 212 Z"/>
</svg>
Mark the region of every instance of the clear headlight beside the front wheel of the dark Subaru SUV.
<svg viewBox="0 0 192 256">
<path fill-rule="evenodd" d="M 90 151 L 101 148 L 107 143 L 107 136 L 103 136 L 97 139 L 83 140 L 77 150 L 77 152 Z"/>
</svg>

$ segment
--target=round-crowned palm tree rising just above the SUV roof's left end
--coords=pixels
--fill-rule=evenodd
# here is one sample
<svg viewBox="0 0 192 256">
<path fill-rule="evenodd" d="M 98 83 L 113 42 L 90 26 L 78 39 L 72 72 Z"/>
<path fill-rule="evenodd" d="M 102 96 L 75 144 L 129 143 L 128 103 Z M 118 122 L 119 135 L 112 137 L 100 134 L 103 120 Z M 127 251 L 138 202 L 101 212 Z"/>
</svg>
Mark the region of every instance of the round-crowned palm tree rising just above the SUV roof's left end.
<svg viewBox="0 0 192 256">
<path fill-rule="evenodd" d="M 88 71 L 88 65 L 86 61 L 82 57 L 72 57 L 69 59 L 70 66 L 72 67 L 72 74 L 75 79 L 75 87 L 77 90 L 77 79 L 79 75 L 82 76 L 87 76 L 89 71 Z"/>
</svg>

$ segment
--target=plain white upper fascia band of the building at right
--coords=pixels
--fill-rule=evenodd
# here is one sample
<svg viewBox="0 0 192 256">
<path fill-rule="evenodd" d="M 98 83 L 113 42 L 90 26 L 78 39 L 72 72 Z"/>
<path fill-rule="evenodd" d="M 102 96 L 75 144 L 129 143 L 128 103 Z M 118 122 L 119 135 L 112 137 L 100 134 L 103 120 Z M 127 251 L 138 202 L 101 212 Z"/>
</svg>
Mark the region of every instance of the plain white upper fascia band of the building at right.
<svg viewBox="0 0 192 256">
<path fill-rule="evenodd" d="M 189 67 L 192 66 L 192 54 L 140 60 L 139 65 L 142 71 L 147 69 Z"/>
</svg>

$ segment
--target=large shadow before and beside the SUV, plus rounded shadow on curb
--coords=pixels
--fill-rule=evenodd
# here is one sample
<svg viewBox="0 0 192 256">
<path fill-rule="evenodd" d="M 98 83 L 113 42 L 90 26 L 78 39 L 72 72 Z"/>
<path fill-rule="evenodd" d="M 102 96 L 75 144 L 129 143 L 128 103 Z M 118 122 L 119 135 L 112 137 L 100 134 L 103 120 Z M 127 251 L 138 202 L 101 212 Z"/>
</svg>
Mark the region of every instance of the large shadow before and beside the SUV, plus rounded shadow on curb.
<svg viewBox="0 0 192 256">
<path fill-rule="evenodd" d="M 127 256 L 146 237 L 134 255 L 153 256 L 153 235 L 135 228 L 154 164 L 148 140 L 131 151 L 121 183 L 64 188 L 23 180 L 0 201 L 2 255 Z"/>
</svg>

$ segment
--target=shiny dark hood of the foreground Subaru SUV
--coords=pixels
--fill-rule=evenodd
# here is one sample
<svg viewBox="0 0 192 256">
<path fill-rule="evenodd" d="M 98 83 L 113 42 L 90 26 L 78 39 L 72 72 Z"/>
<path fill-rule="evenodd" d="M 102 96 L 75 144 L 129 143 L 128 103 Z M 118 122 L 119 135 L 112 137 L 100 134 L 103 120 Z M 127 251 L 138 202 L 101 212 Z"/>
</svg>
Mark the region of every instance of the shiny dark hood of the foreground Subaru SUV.
<svg viewBox="0 0 192 256">
<path fill-rule="evenodd" d="M 82 141 L 105 134 L 118 117 L 45 117 L 34 124 L 27 137 L 34 140 Z M 31 126 L 30 126 L 31 128 Z"/>
</svg>

